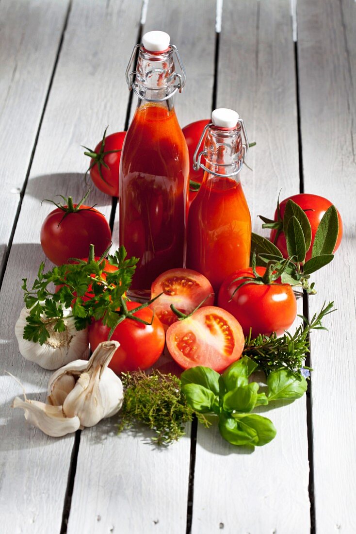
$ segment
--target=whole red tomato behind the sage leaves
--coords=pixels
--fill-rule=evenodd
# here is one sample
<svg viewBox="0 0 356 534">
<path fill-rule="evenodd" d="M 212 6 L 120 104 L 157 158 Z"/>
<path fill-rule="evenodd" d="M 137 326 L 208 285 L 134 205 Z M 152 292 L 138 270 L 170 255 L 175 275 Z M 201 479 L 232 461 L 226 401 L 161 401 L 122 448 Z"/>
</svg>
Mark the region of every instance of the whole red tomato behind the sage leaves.
<svg viewBox="0 0 356 534">
<path fill-rule="evenodd" d="M 324 197 L 319 197 L 319 195 L 312 195 L 309 193 L 300 193 L 298 195 L 292 195 L 292 197 L 288 197 L 282 202 L 280 202 L 280 217 L 283 220 L 284 216 L 284 209 L 286 209 L 286 203 L 287 201 L 291 199 L 293 200 L 300 208 L 302 208 L 305 211 L 305 215 L 309 219 L 309 222 L 312 227 L 312 242 L 310 249 L 307 251 L 305 256 L 305 261 L 310 260 L 312 257 L 312 249 L 313 249 L 313 243 L 314 243 L 314 237 L 315 233 L 317 232 L 319 223 L 322 219 L 322 216 L 325 214 L 326 210 L 332 205 L 332 202 L 330 202 L 328 199 Z M 335 250 L 338 249 L 342 235 L 343 235 L 343 223 L 341 220 L 341 216 L 339 212 L 337 211 L 338 219 L 339 219 L 339 233 L 337 236 L 336 245 L 334 248 Z M 274 214 L 274 220 L 278 220 L 278 211 L 275 210 Z M 285 258 L 288 257 L 288 250 L 287 250 L 287 243 L 286 243 L 286 237 L 283 232 L 281 232 L 278 236 L 278 238 L 275 240 L 276 237 L 276 230 L 271 230 L 271 241 L 280 249 L 281 253 Z"/>
</svg>

